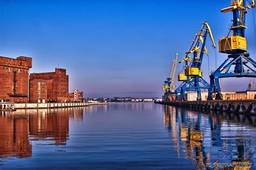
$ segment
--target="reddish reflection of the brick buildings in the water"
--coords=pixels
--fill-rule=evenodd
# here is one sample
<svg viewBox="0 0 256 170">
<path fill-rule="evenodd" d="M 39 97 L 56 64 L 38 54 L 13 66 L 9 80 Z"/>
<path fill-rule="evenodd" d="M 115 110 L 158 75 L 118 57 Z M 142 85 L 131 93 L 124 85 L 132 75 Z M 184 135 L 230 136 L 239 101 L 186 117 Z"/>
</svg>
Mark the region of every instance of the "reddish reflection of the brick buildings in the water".
<svg viewBox="0 0 256 170">
<path fill-rule="evenodd" d="M 63 110 L 0 112 L 0 158 L 29 158 L 32 142 L 66 145 L 69 121 L 83 121 L 84 107 Z"/>
</svg>

